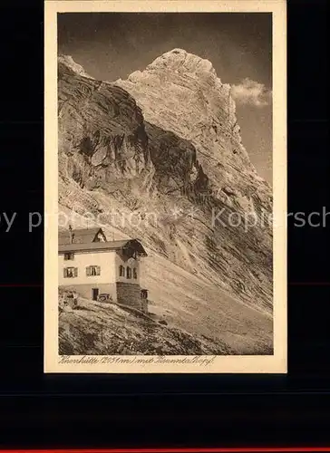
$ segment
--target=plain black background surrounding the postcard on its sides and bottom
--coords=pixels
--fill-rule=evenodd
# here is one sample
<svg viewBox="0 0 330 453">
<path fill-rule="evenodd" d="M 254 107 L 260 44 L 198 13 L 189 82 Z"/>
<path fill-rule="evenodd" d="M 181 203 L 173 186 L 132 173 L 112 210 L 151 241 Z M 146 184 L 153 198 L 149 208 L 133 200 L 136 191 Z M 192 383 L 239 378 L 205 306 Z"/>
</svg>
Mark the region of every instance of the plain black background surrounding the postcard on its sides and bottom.
<svg viewBox="0 0 330 453">
<path fill-rule="evenodd" d="M 326 1 L 287 5 L 288 210 L 330 210 Z M 287 376 L 43 374 L 43 4 L 0 13 L 0 448 L 329 445 L 330 216 L 288 222 Z"/>
</svg>

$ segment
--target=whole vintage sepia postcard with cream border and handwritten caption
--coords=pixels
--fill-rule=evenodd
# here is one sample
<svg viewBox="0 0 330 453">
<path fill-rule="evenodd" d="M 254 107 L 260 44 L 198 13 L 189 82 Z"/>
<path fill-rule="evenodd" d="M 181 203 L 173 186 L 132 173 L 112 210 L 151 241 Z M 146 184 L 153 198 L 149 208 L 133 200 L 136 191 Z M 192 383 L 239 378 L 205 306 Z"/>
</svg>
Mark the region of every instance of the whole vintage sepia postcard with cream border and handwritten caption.
<svg viewBox="0 0 330 453">
<path fill-rule="evenodd" d="M 44 20 L 44 371 L 286 372 L 285 1 Z"/>
</svg>

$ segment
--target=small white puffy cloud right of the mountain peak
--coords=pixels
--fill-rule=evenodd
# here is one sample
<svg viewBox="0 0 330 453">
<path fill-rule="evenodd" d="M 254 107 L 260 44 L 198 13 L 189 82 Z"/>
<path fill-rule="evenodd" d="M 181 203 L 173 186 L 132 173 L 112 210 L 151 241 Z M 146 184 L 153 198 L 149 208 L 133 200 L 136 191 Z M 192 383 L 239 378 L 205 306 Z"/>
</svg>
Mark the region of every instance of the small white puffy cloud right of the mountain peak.
<svg viewBox="0 0 330 453">
<path fill-rule="evenodd" d="M 265 107 L 272 100 L 272 92 L 263 83 L 248 78 L 238 85 L 232 85 L 231 95 L 238 103 L 255 107 Z"/>
</svg>

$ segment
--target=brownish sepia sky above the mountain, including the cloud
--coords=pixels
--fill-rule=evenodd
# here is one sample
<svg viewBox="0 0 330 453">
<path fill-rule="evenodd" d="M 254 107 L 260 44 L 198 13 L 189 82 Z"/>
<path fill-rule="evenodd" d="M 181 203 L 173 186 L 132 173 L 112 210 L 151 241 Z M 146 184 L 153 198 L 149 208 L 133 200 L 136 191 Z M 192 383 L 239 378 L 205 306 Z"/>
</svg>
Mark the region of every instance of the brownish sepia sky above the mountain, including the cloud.
<svg viewBox="0 0 330 453">
<path fill-rule="evenodd" d="M 233 85 L 242 142 L 272 184 L 272 18 L 268 13 L 63 13 L 58 52 L 114 82 L 179 47 Z"/>
</svg>

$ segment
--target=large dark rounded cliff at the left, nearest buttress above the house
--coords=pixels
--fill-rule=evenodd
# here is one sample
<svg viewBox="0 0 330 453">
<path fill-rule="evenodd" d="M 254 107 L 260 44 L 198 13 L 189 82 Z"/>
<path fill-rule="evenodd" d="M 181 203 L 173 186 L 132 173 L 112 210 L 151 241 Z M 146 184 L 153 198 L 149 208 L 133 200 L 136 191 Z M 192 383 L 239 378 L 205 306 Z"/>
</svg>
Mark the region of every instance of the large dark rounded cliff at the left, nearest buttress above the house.
<svg viewBox="0 0 330 453">
<path fill-rule="evenodd" d="M 152 170 L 141 110 L 120 87 L 59 65 L 59 166 L 82 188 L 110 188 Z"/>
</svg>

